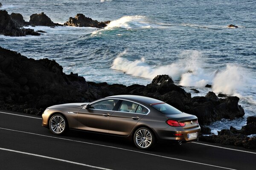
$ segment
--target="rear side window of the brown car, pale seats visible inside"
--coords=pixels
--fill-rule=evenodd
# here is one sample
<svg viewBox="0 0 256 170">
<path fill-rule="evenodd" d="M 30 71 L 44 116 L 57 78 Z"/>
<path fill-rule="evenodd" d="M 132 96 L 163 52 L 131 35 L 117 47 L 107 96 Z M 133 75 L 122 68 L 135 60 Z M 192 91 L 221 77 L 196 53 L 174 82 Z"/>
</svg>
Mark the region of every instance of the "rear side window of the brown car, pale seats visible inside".
<svg viewBox="0 0 256 170">
<path fill-rule="evenodd" d="M 148 113 L 148 109 L 146 109 L 144 106 L 134 102 L 125 101 L 125 100 L 122 101 L 118 111 L 129 112 L 129 113 L 140 113 L 140 114 Z"/>
</svg>

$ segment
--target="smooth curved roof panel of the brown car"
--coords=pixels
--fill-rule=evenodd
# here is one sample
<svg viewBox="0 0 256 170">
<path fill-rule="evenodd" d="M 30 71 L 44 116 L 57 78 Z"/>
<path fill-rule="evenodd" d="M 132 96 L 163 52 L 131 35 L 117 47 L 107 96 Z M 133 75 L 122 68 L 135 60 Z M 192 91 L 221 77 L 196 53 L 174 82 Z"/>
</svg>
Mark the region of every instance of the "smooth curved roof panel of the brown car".
<svg viewBox="0 0 256 170">
<path fill-rule="evenodd" d="M 163 103 L 163 101 L 153 99 L 145 96 L 137 96 L 137 95 L 116 95 L 116 96 L 108 96 L 106 98 L 116 98 L 116 99 L 127 99 L 134 100 L 137 102 L 145 103 L 146 105 L 154 104 L 154 103 Z"/>
</svg>

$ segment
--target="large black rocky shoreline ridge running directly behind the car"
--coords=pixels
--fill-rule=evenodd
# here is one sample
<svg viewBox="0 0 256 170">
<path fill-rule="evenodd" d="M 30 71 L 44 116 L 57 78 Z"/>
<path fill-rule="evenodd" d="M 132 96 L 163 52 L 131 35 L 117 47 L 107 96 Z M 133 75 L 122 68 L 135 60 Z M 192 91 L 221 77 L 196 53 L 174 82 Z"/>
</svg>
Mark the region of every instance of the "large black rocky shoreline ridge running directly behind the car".
<svg viewBox="0 0 256 170">
<path fill-rule="evenodd" d="M 146 86 L 85 82 L 77 74 L 64 74 L 62 67 L 53 60 L 26 59 L 13 51 L 3 48 L 1 51 L 1 74 L 5 78 L 0 80 L 0 101 L 4 103 L 24 105 L 27 102 L 31 108 L 40 109 L 59 103 L 90 102 L 106 96 L 133 94 L 159 99 L 180 111 L 194 114 L 201 125 L 244 115 L 244 110 L 238 105 L 238 97 L 218 99 L 213 92 L 209 92 L 205 97 L 191 98 L 190 93 L 172 81 Z"/>
</svg>

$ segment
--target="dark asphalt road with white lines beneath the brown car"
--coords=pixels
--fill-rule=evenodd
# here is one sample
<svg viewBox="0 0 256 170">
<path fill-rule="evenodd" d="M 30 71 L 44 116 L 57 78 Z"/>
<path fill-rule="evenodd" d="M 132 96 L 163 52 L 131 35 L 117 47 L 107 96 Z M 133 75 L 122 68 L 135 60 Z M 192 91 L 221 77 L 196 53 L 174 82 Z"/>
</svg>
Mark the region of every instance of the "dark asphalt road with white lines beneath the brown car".
<svg viewBox="0 0 256 170">
<path fill-rule="evenodd" d="M 211 143 L 137 149 L 127 139 L 70 130 L 55 136 L 41 116 L 0 111 L 0 170 L 255 170 L 256 151 Z"/>
</svg>

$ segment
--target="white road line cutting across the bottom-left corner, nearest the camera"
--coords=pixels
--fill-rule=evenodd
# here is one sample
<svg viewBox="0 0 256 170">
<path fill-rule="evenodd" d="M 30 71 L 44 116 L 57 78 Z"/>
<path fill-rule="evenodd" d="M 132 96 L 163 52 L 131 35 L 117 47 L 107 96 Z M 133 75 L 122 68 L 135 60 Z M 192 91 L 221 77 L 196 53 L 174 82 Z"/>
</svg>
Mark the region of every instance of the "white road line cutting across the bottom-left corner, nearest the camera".
<svg viewBox="0 0 256 170">
<path fill-rule="evenodd" d="M 82 163 L 79 163 L 79 162 L 73 162 L 73 161 L 68 161 L 68 160 L 64 160 L 64 159 L 53 158 L 53 157 L 38 155 L 38 154 L 34 154 L 34 153 L 21 152 L 21 151 L 18 151 L 18 150 L 11 150 L 11 149 L 6 149 L 6 148 L 2 148 L 2 147 L 0 147 L 0 150 L 22 153 L 22 154 L 26 154 L 26 155 L 30 155 L 30 156 L 38 156 L 38 157 L 41 157 L 41 158 L 53 159 L 53 160 L 56 160 L 56 161 L 63 161 L 63 162 L 71 163 L 71 164 L 78 164 L 78 165 L 82 165 L 82 166 L 85 166 L 85 167 L 93 167 L 93 168 L 97 168 L 97 169 L 100 169 L 100 170 L 111 170 L 111 169 L 107 169 L 107 168 L 103 168 L 103 167 L 96 167 L 96 166 L 92 166 L 92 165 L 88 165 L 88 164 L 82 164 Z"/>
</svg>

